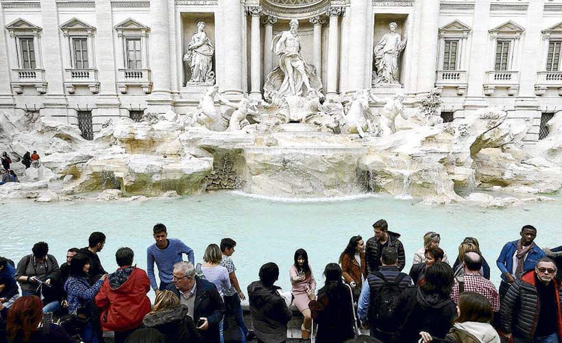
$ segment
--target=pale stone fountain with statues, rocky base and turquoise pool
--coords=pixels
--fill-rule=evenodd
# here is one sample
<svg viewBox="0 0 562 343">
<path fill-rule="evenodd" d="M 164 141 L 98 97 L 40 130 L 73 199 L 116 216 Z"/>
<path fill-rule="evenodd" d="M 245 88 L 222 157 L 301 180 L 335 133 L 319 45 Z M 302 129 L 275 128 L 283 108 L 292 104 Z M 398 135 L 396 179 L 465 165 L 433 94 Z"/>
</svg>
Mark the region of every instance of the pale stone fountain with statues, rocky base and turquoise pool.
<svg viewBox="0 0 562 343">
<path fill-rule="evenodd" d="M 217 49 L 225 51 L 197 20 L 181 58 L 184 86 L 199 90 L 188 113 L 111 117 L 85 139 L 75 123 L 0 108 L 0 145 L 21 181 L 0 186 L 0 232 L 10 237 L 0 255 L 19 258 L 45 239 L 59 257 L 102 230 L 106 268 L 125 244 L 143 266 L 151 226 L 164 222 L 197 259 L 210 241 L 239 241 L 247 284 L 261 262 L 284 268 L 300 246 L 319 277 L 350 235 L 367 239 L 381 217 L 402 233 L 408 260 L 427 230 L 441 232 L 450 255 L 474 235 L 489 261 L 524 224 L 539 228 L 539 244 L 560 243 L 549 237 L 562 220 L 562 111 L 532 145 L 524 139 L 533 121 L 509 117 L 504 106 L 443 122 L 442 89 L 406 92 L 402 55 L 416 35 L 394 21 L 373 43 L 369 86 L 334 96 L 303 54 L 300 23 L 287 19 L 263 47 L 276 65 L 262 93 L 236 98 L 221 89 L 215 63 Z M 19 162 L 33 150 L 40 167 L 25 169 Z"/>
</svg>

